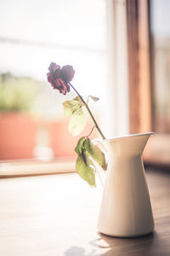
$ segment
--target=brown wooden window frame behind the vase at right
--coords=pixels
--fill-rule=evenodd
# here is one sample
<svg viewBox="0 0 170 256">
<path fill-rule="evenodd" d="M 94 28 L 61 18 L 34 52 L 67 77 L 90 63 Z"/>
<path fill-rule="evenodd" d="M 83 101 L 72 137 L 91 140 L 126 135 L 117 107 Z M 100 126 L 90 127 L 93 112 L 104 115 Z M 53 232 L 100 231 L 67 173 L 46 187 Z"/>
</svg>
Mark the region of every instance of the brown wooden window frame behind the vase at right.
<svg viewBox="0 0 170 256">
<path fill-rule="evenodd" d="M 127 0 L 129 131 L 153 130 L 150 1 Z M 170 167 L 170 135 L 156 133 L 144 150 L 144 162 Z"/>
</svg>

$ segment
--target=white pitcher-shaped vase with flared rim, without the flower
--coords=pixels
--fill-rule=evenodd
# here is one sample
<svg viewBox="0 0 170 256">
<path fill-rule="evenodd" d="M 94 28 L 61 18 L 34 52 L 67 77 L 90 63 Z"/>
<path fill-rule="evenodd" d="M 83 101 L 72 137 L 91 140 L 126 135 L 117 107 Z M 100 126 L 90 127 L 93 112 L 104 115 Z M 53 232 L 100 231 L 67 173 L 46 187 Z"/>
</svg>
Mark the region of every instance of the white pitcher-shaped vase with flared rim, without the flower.
<svg viewBox="0 0 170 256">
<path fill-rule="evenodd" d="M 109 154 L 98 230 L 109 236 L 143 236 L 154 230 L 142 153 L 152 133 L 105 140 Z"/>
</svg>

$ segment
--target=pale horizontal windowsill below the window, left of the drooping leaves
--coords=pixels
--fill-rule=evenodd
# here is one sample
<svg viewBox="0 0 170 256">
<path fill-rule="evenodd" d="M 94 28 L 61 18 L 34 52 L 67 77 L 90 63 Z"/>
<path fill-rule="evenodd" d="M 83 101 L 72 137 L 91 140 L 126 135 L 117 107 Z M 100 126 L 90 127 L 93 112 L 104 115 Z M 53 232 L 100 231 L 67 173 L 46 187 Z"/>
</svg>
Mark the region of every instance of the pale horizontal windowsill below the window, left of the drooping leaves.
<svg viewBox="0 0 170 256">
<path fill-rule="evenodd" d="M 55 173 L 70 173 L 76 172 L 75 166 L 75 158 L 0 161 L 0 177 L 22 177 Z"/>
</svg>

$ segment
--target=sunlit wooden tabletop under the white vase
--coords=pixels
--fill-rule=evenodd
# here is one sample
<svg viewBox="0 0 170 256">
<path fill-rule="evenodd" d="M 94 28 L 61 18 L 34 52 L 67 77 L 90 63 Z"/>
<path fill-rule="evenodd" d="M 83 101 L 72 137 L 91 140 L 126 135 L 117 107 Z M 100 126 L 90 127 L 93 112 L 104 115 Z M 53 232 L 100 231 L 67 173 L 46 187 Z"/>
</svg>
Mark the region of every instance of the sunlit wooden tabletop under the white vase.
<svg viewBox="0 0 170 256">
<path fill-rule="evenodd" d="M 0 255 L 170 255 L 170 173 L 148 170 L 156 230 L 139 238 L 96 228 L 102 188 L 76 173 L 0 179 Z"/>
</svg>

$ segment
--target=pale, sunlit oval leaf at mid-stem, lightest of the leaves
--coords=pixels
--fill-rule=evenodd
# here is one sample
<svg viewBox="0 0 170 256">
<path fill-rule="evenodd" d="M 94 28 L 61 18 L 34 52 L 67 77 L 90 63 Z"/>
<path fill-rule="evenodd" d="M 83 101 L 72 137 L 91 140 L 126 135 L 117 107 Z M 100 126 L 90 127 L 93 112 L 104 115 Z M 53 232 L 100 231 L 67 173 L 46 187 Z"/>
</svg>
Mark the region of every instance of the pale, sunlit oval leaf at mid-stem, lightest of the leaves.
<svg viewBox="0 0 170 256">
<path fill-rule="evenodd" d="M 86 115 L 83 112 L 82 108 L 78 108 L 72 114 L 68 130 L 73 137 L 76 137 L 84 130 L 85 125 L 86 125 Z"/>
</svg>

